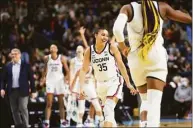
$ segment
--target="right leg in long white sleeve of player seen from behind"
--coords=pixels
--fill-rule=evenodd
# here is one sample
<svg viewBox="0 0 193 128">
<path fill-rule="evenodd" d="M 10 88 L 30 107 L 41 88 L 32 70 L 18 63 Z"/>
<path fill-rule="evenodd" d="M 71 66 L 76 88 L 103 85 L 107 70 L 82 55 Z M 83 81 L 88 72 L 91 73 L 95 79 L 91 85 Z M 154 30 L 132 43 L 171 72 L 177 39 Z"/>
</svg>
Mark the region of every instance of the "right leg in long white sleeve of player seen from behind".
<svg viewBox="0 0 193 128">
<path fill-rule="evenodd" d="M 149 104 L 147 127 L 159 127 L 160 109 L 165 82 L 153 77 L 147 77 L 147 99 Z"/>
</svg>

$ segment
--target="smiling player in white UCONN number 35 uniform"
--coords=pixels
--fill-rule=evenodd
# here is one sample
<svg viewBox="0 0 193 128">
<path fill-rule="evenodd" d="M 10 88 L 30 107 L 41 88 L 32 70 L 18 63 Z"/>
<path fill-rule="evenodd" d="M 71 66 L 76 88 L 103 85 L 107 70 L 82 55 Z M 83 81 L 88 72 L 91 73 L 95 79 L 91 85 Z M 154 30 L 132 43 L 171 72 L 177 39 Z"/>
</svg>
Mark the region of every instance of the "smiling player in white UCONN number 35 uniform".
<svg viewBox="0 0 193 128">
<path fill-rule="evenodd" d="M 95 38 L 95 44 L 85 51 L 83 66 L 79 74 L 80 93 L 84 95 L 85 75 L 89 71 L 89 65 L 91 65 L 97 82 L 97 94 L 104 105 L 104 127 L 112 127 L 116 124 L 114 108 L 118 99 L 121 98 L 123 87 L 123 78 L 118 72 L 117 66 L 131 93 L 135 94 L 136 90 L 130 85 L 129 77 L 118 48 L 114 44 L 110 45 L 108 43 L 108 31 L 99 28 L 95 33 Z"/>
</svg>

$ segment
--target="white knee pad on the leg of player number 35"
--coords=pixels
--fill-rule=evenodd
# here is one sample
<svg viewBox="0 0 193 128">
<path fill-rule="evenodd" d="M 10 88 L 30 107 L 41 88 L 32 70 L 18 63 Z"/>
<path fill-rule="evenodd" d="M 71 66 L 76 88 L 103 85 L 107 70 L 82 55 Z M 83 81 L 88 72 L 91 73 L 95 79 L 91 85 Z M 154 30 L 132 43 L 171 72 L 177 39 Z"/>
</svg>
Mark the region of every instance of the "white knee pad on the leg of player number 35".
<svg viewBox="0 0 193 128">
<path fill-rule="evenodd" d="M 115 108 L 116 104 L 113 100 L 111 99 L 106 99 L 105 101 L 105 106 L 104 106 L 104 116 L 105 116 L 105 121 L 108 122 L 115 122 L 114 116 L 115 116 L 115 112 L 114 112 L 114 108 Z"/>
</svg>

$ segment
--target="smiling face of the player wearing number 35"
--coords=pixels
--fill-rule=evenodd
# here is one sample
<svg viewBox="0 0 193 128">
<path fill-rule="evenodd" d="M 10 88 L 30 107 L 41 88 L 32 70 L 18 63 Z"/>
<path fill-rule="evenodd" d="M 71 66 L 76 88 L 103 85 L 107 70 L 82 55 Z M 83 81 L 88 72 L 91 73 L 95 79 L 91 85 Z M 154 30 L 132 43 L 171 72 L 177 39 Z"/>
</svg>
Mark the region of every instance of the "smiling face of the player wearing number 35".
<svg viewBox="0 0 193 128">
<path fill-rule="evenodd" d="M 109 40 L 109 33 L 107 30 L 102 29 L 96 34 L 96 40 L 101 43 L 106 43 Z"/>
</svg>

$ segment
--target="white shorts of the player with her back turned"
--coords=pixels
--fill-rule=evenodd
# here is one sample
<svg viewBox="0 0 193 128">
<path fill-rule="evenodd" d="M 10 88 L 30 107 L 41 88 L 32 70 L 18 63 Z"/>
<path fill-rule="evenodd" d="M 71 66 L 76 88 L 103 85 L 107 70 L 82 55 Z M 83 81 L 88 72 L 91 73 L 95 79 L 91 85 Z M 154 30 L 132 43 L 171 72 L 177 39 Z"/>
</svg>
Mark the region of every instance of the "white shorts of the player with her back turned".
<svg viewBox="0 0 193 128">
<path fill-rule="evenodd" d="M 168 74 L 166 49 L 162 45 L 153 46 L 148 54 L 148 59 L 143 61 L 138 56 L 138 51 L 128 55 L 128 66 L 135 86 L 142 86 L 147 83 L 146 78 L 152 77 L 166 82 Z"/>
</svg>

